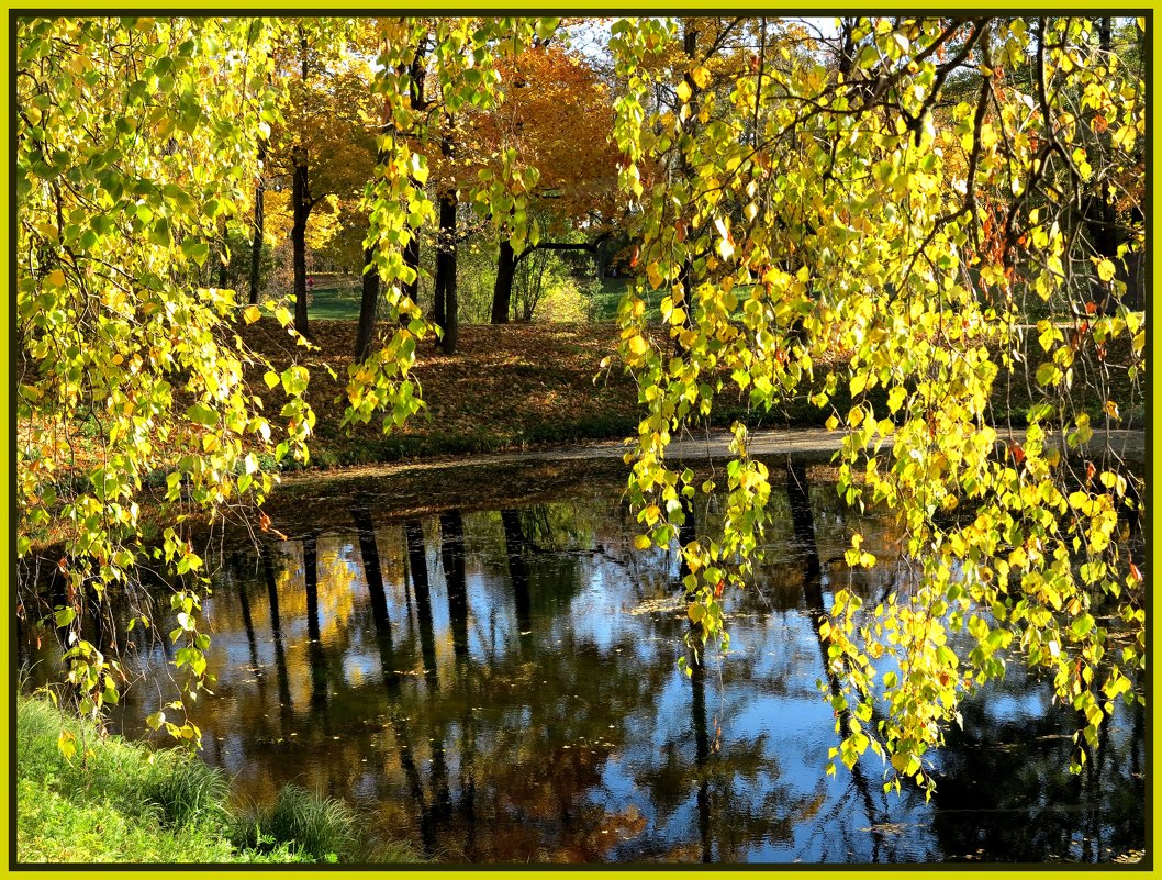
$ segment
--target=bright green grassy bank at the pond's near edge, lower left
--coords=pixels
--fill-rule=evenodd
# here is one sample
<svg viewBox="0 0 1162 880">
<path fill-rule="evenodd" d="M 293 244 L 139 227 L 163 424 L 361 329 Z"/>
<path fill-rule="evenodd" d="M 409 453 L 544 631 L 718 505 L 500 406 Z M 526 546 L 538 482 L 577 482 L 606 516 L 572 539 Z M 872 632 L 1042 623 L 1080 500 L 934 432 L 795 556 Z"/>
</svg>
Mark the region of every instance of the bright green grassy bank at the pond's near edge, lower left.
<svg viewBox="0 0 1162 880">
<path fill-rule="evenodd" d="M 58 741 L 76 751 L 66 759 Z M 275 803 L 230 807 L 225 777 L 185 752 L 157 751 L 71 717 L 16 706 L 16 859 L 28 863 L 416 861 L 373 846 L 339 801 L 287 786 Z"/>
</svg>

